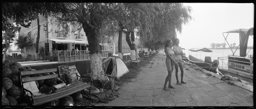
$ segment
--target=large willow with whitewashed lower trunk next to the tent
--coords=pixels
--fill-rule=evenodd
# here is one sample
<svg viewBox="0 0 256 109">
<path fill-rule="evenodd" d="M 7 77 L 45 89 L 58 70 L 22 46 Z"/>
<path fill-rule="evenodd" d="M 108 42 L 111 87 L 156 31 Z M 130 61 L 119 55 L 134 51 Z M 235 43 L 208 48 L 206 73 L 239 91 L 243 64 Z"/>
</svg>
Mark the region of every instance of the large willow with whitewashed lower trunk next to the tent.
<svg viewBox="0 0 256 109">
<path fill-rule="evenodd" d="M 108 13 L 111 3 L 59 3 L 63 4 L 62 12 L 51 17 L 60 23 L 68 23 L 72 30 L 83 29 L 88 38 L 91 49 L 91 73 L 93 79 L 101 80 L 104 77 L 100 51 L 100 28 L 104 21 L 111 18 Z M 110 10 L 109 10 L 110 9 Z"/>
</svg>

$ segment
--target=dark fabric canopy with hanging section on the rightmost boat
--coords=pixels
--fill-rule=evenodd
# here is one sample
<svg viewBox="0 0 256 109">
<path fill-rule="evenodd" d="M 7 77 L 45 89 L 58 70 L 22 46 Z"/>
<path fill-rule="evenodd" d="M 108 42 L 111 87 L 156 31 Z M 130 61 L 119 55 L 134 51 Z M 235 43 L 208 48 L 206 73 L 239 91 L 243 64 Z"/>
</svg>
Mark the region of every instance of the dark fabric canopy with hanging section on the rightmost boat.
<svg viewBox="0 0 256 109">
<path fill-rule="evenodd" d="M 240 56 L 245 57 L 249 35 L 253 35 L 253 28 L 230 30 L 224 33 L 239 33 Z"/>
</svg>

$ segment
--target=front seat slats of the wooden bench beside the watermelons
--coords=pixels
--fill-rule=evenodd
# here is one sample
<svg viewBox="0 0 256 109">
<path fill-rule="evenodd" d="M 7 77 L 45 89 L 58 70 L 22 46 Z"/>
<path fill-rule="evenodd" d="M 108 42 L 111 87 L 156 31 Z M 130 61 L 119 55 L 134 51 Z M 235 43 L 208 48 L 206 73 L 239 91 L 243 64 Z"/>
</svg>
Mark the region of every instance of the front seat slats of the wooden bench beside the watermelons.
<svg viewBox="0 0 256 109">
<path fill-rule="evenodd" d="M 67 87 L 68 89 L 66 90 L 58 91 L 56 93 L 51 93 L 49 95 L 45 95 L 44 97 L 40 97 L 40 98 L 35 97 L 33 105 L 39 105 L 39 104 L 47 103 L 56 99 L 60 99 L 68 95 L 74 94 L 76 92 L 82 91 L 86 88 L 90 88 L 90 86 L 91 86 L 90 84 L 86 84 L 86 83 L 70 85 L 69 87 Z"/>
</svg>

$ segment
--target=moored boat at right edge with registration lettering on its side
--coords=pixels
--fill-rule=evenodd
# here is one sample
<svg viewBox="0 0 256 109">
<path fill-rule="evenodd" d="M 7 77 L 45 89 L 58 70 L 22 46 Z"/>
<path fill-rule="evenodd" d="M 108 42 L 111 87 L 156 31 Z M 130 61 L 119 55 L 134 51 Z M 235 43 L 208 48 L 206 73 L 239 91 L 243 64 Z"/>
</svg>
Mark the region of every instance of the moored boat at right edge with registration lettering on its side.
<svg viewBox="0 0 256 109">
<path fill-rule="evenodd" d="M 239 49 L 240 54 L 234 55 L 236 51 L 233 52 L 231 47 L 229 46 L 229 43 L 227 41 L 227 36 L 231 33 L 238 33 L 239 35 Z M 253 38 L 253 28 L 250 29 L 236 29 L 236 30 L 230 30 L 227 32 L 223 32 L 223 37 L 225 38 L 225 41 L 227 42 L 227 45 L 229 46 L 230 50 L 232 51 L 232 55 L 228 55 L 226 57 L 227 59 L 227 67 L 220 67 L 218 68 L 219 72 L 224 75 L 229 75 L 232 77 L 237 77 L 241 80 L 244 80 L 246 82 L 253 84 L 253 54 L 246 53 L 247 51 L 247 44 L 249 36 Z M 227 34 L 226 36 L 224 34 Z M 253 46 L 252 46 L 253 47 Z M 252 48 L 251 47 L 251 48 Z M 250 49 L 251 50 L 251 49 Z M 219 60 L 224 60 L 224 57 L 218 57 Z M 220 61 L 221 62 L 221 61 Z"/>
</svg>

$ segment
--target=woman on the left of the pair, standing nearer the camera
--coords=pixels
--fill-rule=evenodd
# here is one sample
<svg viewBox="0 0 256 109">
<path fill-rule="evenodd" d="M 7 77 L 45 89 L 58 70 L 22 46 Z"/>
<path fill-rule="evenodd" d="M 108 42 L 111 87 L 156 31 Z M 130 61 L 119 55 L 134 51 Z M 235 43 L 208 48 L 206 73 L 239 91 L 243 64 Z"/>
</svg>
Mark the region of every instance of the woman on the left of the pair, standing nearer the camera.
<svg viewBox="0 0 256 109">
<path fill-rule="evenodd" d="M 169 88 L 174 88 L 170 84 L 170 82 L 172 80 L 172 72 L 173 72 L 173 69 L 174 69 L 174 64 L 177 64 L 177 62 L 175 62 L 175 60 L 174 60 L 175 56 L 174 56 L 174 51 L 172 49 L 172 44 L 173 44 L 173 40 L 168 39 L 168 40 L 166 40 L 165 48 L 164 48 L 164 52 L 165 52 L 165 55 L 166 55 L 165 64 L 166 64 L 167 71 L 168 71 L 168 75 L 165 78 L 165 82 L 164 82 L 164 86 L 163 86 L 163 89 L 166 90 L 166 91 L 169 91 L 169 89 L 166 87 L 166 84 L 167 84 L 168 81 L 169 81 L 168 87 Z"/>
</svg>

